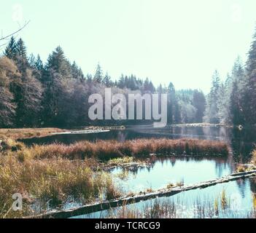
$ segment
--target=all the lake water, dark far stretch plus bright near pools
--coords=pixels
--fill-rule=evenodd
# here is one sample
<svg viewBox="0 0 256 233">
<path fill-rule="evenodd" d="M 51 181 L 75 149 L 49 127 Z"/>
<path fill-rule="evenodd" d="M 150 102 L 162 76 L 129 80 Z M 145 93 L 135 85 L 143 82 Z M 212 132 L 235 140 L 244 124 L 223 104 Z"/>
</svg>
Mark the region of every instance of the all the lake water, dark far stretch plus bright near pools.
<svg viewBox="0 0 256 233">
<path fill-rule="evenodd" d="M 169 157 L 156 159 L 151 167 L 138 168 L 125 172 L 122 168 L 111 171 L 115 183 L 120 186 L 125 194 L 139 193 L 147 189 L 166 188 L 169 183 L 184 183 L 185 185 L 209 181 L 229 175 L 236 171 L 236 163 L 247 163 L 251 159 L 251 151 L 256 143 L 255 129 L 238 130 L 229 127 L 168 127 L 153 129 L 151 127 L 131 127 L 126 130 L 112 130 L 107 133 L 79 134 L 79 135 L 51 135 L 44 138 L 31 138 L 23 140 L 27 145 L 64 143 L 71 144 L 78 141 L 117 140 L 126 141 L 136 138 L 198 138 L 214 141 L 225 141 L 230 145 L 232 154 L 226 158 L 221 157 Z M 177 207 L 177 217 L 196 218 L 195 206 L 214 206 L 225 191 L 225 196 L 232 204 L 225 213 L 220 213 L 220 218 L 246 218 L 253 208 L 254 194 L 256 193 L 255 178 L 218 184 L 206 189 L 185 191 L 173 197 L 162 197 L 158 200 L 148 200 L 129 205 L 128 208 L 144 210 L 152 202 L 171 202 Z M 207 202 L 207 203 L 206 203 Z M 203 204 L 202 204 L 203 203 Z M 234 204 L 236 206 L 234 206 Z M 220 204 L 219 204 L 220 205 Z M 72 205 L 67 205 L 71 208 Z M 103 218 L 118 216 L 115 210 L 93 213 L 76 218 Z M 194 214 L 194 216 L 193 216 Z"/>
</svg>

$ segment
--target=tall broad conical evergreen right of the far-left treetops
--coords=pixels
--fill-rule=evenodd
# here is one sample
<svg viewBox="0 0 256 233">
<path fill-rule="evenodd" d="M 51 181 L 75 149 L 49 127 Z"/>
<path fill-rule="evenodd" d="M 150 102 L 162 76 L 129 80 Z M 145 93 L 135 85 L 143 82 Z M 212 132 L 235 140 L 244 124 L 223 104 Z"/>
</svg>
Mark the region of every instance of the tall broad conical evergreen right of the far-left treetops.
<svg viewBox="0 0 256 233">
<path fill-rule="evenodd" d="M 49 56 L 45 66 L 42 122 L 49 126 L 62 126 L 68 117 L 70 93 L 73 88 L 71 65 L 61 47 Z M 71 98 L 71 97 L 70 97 Z"/>
</svg>

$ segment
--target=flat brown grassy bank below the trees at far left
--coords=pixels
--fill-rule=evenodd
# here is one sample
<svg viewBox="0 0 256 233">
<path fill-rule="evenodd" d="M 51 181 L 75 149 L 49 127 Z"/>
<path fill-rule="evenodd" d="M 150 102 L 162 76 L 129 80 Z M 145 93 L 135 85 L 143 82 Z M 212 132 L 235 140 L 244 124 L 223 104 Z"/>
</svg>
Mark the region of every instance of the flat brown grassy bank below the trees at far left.
<svg viewBox="0 0 256 233">
<path fill-rule="evenodd" d="M 49 135 L 50 133 L 62 133 L 66 130 L 58 128 L 24 128 L 24 129 L 0 129 L 0 139 L 2 138 L 39 138 Z"/>
</svg>

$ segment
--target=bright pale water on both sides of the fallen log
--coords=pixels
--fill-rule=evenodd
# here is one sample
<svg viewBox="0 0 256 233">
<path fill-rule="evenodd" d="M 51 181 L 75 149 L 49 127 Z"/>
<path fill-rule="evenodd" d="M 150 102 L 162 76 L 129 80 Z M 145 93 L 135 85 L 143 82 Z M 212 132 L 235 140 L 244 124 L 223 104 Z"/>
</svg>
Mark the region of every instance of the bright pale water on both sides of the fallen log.
<svg viewBox="0 0 256 233">
<path fill-rule="evenodd" d="M 139 193 L 147 189 L 158 190 L 166 188 L 169 183 L 176 184 L 183 182 L 185 185 L 210 181 L 221 178 L 235 172 L 232 158 L 169 158 L 154 162 L 150 168 L 139 168 L 136 171 L 125 171 L 122 168 L 112 170 L 115 183 L 120 186 L 125 193 Z M 220 218 L 246 218 L 254 208 L 254 194 L 256 191 L 256 179 L 246 179 L 220 183 L 206 189 L 196 189 L 176 194 L 172 197 L 161 197 L 157 200 L 147 200 L 133 205 L 129 205 L 130 210 L 144 210 L 152 206 L 154 202 L 175 203 L 177 206 L 177 217 L 195 218 L 195 206 L 214 206 L 216 200 L 219 205 L 223 191 L 230 202 L 230 209 L 225 213 L 220 213 Z M 76 218 L 109 218 L 115 216 L 122 208 L 114 210 L 104 210 L 101 212 L 77 216 Z M 205 210 L 207 212 L 207 210 Z M 118 215 L 117 215 L 118 216 Z"/>
</svg>

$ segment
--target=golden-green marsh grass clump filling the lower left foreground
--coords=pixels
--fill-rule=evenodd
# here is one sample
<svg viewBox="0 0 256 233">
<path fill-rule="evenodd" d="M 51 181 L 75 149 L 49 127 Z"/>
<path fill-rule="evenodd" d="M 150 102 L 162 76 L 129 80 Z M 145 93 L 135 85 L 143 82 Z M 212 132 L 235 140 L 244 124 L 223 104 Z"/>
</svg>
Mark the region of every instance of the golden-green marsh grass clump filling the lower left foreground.
<svg viewBox="0 0 256 233">
<path fill-rule="evenodd" d="M 9 210 L 15 193 L 23 195 L 23 212 Z M 21 162 L 15 156 L 0 156 L 0 218 L 33 215 L 30 206 L 35 200 L 39 200 L 44 211 L 48 203 L 56 207 L 69 197 L 89 203 L 120 195 L 112 177 L 93 172 L 86 160 L 26 158 Z"/>
</svg>

